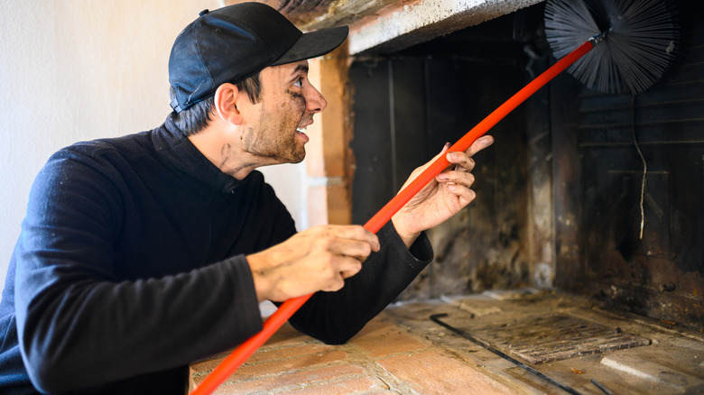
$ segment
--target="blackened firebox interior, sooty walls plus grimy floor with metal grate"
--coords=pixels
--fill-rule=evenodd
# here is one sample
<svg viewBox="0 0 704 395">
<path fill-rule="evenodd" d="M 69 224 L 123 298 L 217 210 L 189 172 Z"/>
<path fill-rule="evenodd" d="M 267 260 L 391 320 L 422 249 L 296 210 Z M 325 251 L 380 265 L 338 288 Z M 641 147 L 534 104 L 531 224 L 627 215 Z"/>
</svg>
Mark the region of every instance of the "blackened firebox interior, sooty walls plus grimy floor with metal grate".
<svg viewBox="0 0 704 395">
<path fill-rule="evenodd" d="M 494 146 L 477 154 L 477 199 L 429 231 L 435 260 L 402 301 L 445 300 L 458 309 L 424 318 L 516 365 L 606 367 L 605 378 L 679 366 L 663 373 L 683 374 L 679 388 L 646 389 L 645 380 L 614 391 L 702 390 L 700 357 L 673 359 L 681 348 L 657 351 L 658 336 L 644 329 L 694 338 L 702 350 L 704 18 L 701 5 L 681 3 L 680 59 L 649 91 L 602 94 L 564 73 L 496 124 Z M 354 58 L 353 222 L 551 66 L 543 8 Z M 412 331 L 421 319 L 401 317 Z M 650 382 L 667 381 L 658 377 Z M 597 384 L 571 393 L 600 393 Z"/>
</svg>

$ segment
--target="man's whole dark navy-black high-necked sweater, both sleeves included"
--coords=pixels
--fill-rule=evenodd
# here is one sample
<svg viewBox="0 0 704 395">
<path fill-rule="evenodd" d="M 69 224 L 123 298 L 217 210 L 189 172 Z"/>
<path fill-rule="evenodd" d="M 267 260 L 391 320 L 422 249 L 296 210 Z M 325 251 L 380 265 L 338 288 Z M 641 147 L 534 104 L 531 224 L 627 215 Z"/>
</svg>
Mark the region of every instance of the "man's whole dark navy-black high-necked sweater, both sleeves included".
<svg viewBox="0 0 704 395">
<path fill-rule="evenodd" d="M 57 152 L 5 281 L 0 392 L 184 393 L 190 362 L 262 328 L 245 255 L 294 233 L 260 172 L 221 172 L 168 119 Z M 382 250 L 294 327 L 344 343 L 431 260 L 424 235 L 410 252 L 392 225 L 378 235 Z"/>
</svg>

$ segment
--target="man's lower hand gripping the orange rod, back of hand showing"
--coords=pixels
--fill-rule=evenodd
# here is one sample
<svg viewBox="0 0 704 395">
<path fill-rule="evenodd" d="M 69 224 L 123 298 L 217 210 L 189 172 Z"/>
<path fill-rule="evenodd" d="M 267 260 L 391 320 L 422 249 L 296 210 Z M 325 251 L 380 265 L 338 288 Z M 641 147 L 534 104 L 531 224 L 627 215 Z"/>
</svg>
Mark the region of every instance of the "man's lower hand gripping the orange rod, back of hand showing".
<svg viewBox="0 0 704 395">
<path fill-rule="evenodd" d="M 376 235 L 360 225 L 322 225 L 247 255 L 246 260 L 259 301 L 284 301 L 341 289 L 379 248 Z"/>
</svg>

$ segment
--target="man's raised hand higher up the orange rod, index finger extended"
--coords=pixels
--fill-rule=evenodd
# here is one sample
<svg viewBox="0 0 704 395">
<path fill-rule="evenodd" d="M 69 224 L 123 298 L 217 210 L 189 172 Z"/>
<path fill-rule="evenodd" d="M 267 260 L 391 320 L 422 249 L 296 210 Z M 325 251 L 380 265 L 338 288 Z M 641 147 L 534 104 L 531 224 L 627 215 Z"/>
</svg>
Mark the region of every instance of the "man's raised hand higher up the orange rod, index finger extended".
<svg viewBox="0 0 704 395">
<path fill-rule="evenodd" d="M 475 166 L 472 156 L 492 142 L 494 138 L 491 136 L 480 137 L 465 152 L 448 152 L 449 144 L 446 144 L 438 156 L 413 170 L 403 188 L 440 155 L 446 155 L 449 161 L 447 169 L 440 172 L 392 217 L 396 233 L 406 246 L 410 247 L 422 231 L 442 224 L 474 200 L 477 195 L 470 189 L 474 183 L 474 176 L 470 172 Z"/>
</svg>

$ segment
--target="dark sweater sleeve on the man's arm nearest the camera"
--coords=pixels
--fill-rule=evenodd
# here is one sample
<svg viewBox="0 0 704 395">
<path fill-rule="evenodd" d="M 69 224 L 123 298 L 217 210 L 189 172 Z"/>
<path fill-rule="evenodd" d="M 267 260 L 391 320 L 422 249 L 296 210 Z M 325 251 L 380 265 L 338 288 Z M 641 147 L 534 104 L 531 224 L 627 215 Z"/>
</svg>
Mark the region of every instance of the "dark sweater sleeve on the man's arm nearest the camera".
<svg viewBox="0 0 704 395">
<path fill-rule="evenodd" d="M 261 330 L 244 256 L 158 279 L 116 280 L 119 194 L 109 169 L 97 167 L 54 159 L 32 186 L 15 309 L 35 387 L 64 392 L 185 367 Z"/>
</svg>

